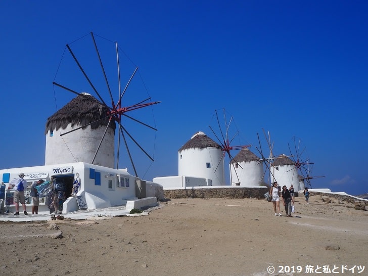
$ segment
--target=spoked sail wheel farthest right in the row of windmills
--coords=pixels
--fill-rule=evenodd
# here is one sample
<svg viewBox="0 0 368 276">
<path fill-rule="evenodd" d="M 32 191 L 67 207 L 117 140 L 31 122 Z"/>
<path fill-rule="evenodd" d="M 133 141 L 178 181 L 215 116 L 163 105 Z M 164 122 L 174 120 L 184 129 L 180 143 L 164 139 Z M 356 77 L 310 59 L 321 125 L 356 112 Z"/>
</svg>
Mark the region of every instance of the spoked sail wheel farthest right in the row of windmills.
<svg viewBox="0 0 368 276">
<path fill-rule="evenodd" d="M 298 140 L 298 141 L 297 141 Z M 298 139 L 297 137 L 292 138 L 293 144 L 290 146 L 290 143 L 288 143 L 289 151 L 292 156 L 292 159 L 294 161 L 295 168 L 298 172 L 298 178 L 300 179 L 300 182 L 303 182 L 304 187 L 312 189 L 312 185 L 310 183 L 310 180 L 313 178 L 320 178 L 325 176 L 312 176 L 312 168 L 314 163 L 310 161 L 310 158 L 308 157 L 306 147 L 301 142 L 301 139 Z M 306 181 L 306 185 L 305 182 Z M 304 187 L 300 187 L 303 189 Z"/>
</svg>

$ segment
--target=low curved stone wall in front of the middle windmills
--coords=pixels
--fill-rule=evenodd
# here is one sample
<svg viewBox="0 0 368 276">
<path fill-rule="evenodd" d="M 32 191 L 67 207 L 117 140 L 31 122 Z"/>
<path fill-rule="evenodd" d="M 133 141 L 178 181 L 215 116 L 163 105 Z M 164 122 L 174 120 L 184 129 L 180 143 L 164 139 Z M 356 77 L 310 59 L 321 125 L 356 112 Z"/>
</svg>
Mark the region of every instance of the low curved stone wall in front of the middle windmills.
<svg viewBox="0 0 368 276">
<path fill-rule="evenodd" d="M 164 190 L 164 196 L 170 198 L 262 198 L 267 187 L 211 187 Z"/>
</svg>

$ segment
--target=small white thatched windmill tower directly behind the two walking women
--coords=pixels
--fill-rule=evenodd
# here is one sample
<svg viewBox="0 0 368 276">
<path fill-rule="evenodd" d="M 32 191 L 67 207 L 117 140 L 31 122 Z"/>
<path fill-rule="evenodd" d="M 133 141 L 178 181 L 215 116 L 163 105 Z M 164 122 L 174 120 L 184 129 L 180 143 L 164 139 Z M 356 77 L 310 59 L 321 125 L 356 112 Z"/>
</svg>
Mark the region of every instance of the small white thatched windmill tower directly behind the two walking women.
<svg viewBox="0 0 368 276">
<path fill-rule="evenodd" d="M 277 181 L 279 186 L 286 185 L 289 188 L 293 185 L 296 191 L 301 190 L 295 162 L 285 154 L 275 157 L 270 167 L 270 174 L 272 182 Z"/>
</svg>

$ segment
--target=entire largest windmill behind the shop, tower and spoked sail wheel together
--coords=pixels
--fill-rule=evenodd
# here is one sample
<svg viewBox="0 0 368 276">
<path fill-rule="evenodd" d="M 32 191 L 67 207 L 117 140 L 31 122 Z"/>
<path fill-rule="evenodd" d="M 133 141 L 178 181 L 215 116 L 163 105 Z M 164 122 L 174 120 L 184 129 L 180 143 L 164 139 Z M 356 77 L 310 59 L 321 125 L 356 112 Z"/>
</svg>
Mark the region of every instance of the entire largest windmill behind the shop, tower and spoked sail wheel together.
<svg viewBox="0 0 368 276">
<path fill-rule="evenodd" d="M 73 47 L 71 44 L 66 44 L 65 51 L 68 50 L 70 56 L 63 54 L 62 61 L 65 59 L 65 63 L 60 62 L 60 64 L 66 66 L 59 66 L 59 69 L 63 68 L 64 70 L 59 71 L 58 69 L 59 74 L 55 76 L 53 81 L 54 90 L 63 90 L 63 92 L 66 90 L 78 95 L 78 97 L 47 121 L 45 164 L 83 161 L 111 168 L 115 164 L 116 168 L 119 168 L 120 145 L 124 142 L 126 156 L 130 159 L 134 175 L 138 176 L 133 157 L 141 156 L 140 166 L 147 161 L 146 157 L 151 162 L 154 161 L 151 156 L 154 150 L 148 151 L 144 148 L 154 135 L 147 131 L 152 132 L 157 131 L 157 129 L 147 123 L 151 116 L 137 112 L 137 110 L 160 102 L 151 102 L 151 97 L 148 94 L 147 97 L 143 96 L 146 94 L 146 87 L 144 83 L 139 84 L 135 81 L 134 75 L 138 72 L 138 67 L 135 65 L 133 73 L 125 87 L 122 88 L 120 79 L 122 63 L 119 58 L 119 52 L 122 51 L 117 42 L 112 42 L 101 36 L 97 36 L 96 38 L 99 39 L 96 39 L 91 32 L 90 42 L 92 43 L 81 43 L 85 46 L 83 47 L 79 42 L 82 42 L 86 37 L 87 35 L 84 35 L 74 40 L 71 43 Z M 100 52 L 97 40 L 106 42 L 103 44 L 108 51 Z M 76 51 L 73 51 L 72 48 Z M 111 51 L 113 49 L 114 51 Z M 109 66 L 104 66 L 103 58 L 107 60 Z M 133 65 L 128 57 L 127 60 L 130 66 L 126 67 L 125 72 L 130 71 L 128 68 Z M 117 66 L 111 66 L 115 62 Z M 114 75 L 117 76 L 117 81 L 111 82 L 109 76 Z M 89 94 L 80 94 L 77 90 L 88 91 Z M 118 92 L 119 96 L 115 100 L 112 96 L 114 91 Z M 110 99 L 105 98 L 107 93 Z M 154 120 L 151 120 L 151 123 L 154 123 Z M 115 128 L 117 128 L 116 133 Z M 139 133 L 139 135 L 134 135 L 133 132 Z M 116 134 L 117 141 L 114 139 L 114 134 Z M 149 160 L 148 162 L 150 162 Z M 140 171 L 140 174 L 142 173 Z"/>
</svg>

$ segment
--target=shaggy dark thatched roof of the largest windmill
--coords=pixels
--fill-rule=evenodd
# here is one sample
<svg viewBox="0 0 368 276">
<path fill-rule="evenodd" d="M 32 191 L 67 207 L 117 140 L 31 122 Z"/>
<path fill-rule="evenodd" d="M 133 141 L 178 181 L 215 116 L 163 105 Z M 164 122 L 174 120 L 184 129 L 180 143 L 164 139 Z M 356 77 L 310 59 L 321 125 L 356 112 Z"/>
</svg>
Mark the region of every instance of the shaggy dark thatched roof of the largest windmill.
<svg viewBox="0 0 368 276">
<path fill-rule="evenodd" d="M 97 121 L 106 117 L 108 110 L 109 109 L 103 106 L 95 97 L 89 94 L 84 94 L 84 96 L 78 95 L 48 118 L 45 134 L 47 134 L 49 130 L 65 129 L 68 124 L 71 124 L 71 126 L 82 126 Z M 108 122 L 109 118 L 106 118 L 105 120 L 90 124 L 90 127 L 96 129 L 100 125 L 107 125 Z M 115 121 L 112 120 L 109 126 L 115 130 Z"/>
</svg>

